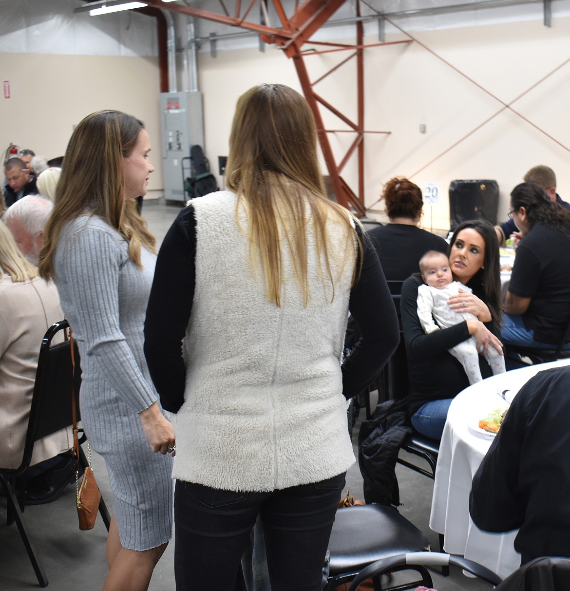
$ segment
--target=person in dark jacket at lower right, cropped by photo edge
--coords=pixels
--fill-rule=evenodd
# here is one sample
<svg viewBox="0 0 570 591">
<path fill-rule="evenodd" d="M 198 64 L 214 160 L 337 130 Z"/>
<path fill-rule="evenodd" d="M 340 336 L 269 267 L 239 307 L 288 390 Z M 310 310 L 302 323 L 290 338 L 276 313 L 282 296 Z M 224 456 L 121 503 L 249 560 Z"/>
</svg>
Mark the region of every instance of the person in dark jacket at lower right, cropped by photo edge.
<svg viewBox="0 0 570 591">
<path fill-rule="evenodd" d="M 471 485 L 469 511 L 485 531 L 519 532 L 521 564 L 570 557 L 570 367 L 520 389 Z"/>
</svg>

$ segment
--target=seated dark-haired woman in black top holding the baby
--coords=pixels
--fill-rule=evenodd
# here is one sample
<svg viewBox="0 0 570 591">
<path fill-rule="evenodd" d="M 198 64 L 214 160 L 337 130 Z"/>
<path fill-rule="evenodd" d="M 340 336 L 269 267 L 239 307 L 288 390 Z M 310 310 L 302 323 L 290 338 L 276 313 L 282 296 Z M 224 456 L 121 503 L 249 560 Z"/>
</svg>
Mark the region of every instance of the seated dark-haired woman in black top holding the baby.
<svg viewBox="0 0 570 591">
<path fill-rule="evenodd" d="M 463 222 L 455 229 L 450 244 L 454 280 L 473 290 L 451 296 L 451 310 L 470 312 L 475 318 L 426 335 L 418 317 L 418 288 L 421 277 L 413 275 L 402 286 L 403 336 L 408 355 L 409 410 L 412 425 L 420 433 L 441 439 L 452 398 L 467 388 L 469 380 L 461 363 L 448 350 L 471 337 L 481 355 L 481 375 L 491 369 L 482 355 L 493 347 L 502 352 L 499 337 L 500 277 L 499 245 L 493 226 L 486 220 Z"/>
</svg>

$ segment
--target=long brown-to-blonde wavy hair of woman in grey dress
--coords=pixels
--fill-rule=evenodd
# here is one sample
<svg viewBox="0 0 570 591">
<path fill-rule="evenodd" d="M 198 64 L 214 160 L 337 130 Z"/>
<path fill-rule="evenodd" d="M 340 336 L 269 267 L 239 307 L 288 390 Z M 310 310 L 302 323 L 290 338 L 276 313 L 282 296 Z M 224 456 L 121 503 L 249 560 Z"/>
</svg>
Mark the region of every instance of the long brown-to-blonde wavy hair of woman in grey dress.
<svg viewBox="0 0 570 591">
<path fill-rule="evenodd" d="M 119 111 L 97 111 L 75 128 L 67 144 L 53 212 L 45 226 L 40 274 L 49 279 L 61 231 L 82 213 L 102 217 L 129 242 L 129 256 L 140 268 L 141 245 L 154 252 L 155 239 L 135 210 L 125 202 L 122 157 L 136 146 L 142 121 Z"/>
</svg>

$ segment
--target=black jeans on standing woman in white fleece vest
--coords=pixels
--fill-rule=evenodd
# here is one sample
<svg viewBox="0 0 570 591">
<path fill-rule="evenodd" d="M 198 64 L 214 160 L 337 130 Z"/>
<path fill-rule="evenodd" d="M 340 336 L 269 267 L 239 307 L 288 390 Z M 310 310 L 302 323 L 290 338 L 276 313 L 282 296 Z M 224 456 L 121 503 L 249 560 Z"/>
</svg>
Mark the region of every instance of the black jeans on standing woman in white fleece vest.
<svg viewBox="0 0 570 591">
<path fill-rule="evenodd" d="M 320 591 L 345 475 L 272 492 L 221 491 L 177 480 L 177 591 L 233 591 L 258 514 L 272 591 Z"/>
</svg>

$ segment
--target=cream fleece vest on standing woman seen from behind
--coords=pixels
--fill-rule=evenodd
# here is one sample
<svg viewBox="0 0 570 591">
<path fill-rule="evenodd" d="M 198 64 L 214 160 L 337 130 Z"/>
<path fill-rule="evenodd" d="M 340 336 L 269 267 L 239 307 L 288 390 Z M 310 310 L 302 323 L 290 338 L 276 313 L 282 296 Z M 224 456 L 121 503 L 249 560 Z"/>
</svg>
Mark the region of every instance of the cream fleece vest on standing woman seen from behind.
<svg viewBox="0 0 570 591">
<path fill-rule="evenodd" d="M 236 195 L 212 193 L 196 212 L 196 291 L 184 340 L 185 401 L 175 418 L 173 477 L 230 491 L 272 491 L 331 478 L 354 463 L 340 358 L 353 257 L 346 230 L 329 221 L 337 277 L 321 280 L 312 222 L 309 283 L 302 306 L 284 244 L 281 307 L 265 295 L 248 258 L 247 219 Z M 340 277 L 339 277 L 340 276 Z"/>
</svg>

